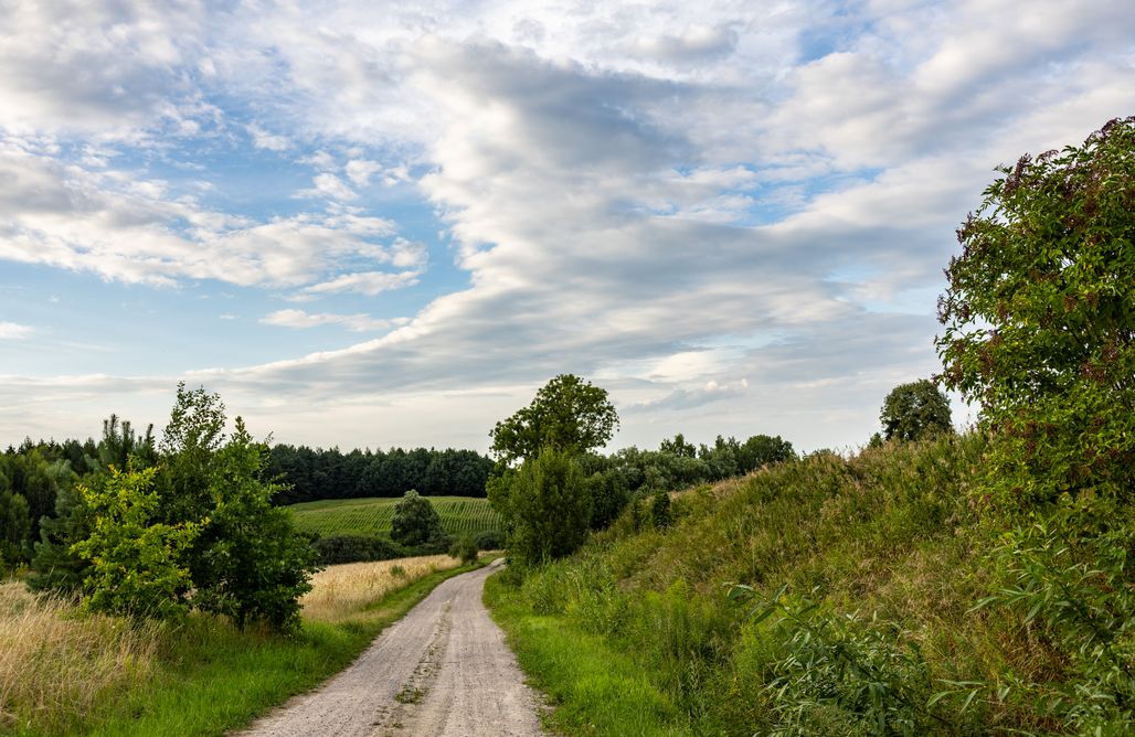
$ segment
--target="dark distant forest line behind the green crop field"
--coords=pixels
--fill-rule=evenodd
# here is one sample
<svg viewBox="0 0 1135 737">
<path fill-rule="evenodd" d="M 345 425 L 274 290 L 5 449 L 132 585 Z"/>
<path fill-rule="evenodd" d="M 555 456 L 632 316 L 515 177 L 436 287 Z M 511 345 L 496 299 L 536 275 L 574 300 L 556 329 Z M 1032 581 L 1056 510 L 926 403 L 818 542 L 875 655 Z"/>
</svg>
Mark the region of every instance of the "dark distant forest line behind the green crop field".
<svg viewBox="0 0 1135 737">
<path fill-rule="evenodd" d="M 484 497 L 493 460 L 474 450 L 323 450 L 274 446 L 266 473 L 291 486 L 276 502 L 317 499 L 401 497 L 411 489 L 424 497 Z"/>
</svg>

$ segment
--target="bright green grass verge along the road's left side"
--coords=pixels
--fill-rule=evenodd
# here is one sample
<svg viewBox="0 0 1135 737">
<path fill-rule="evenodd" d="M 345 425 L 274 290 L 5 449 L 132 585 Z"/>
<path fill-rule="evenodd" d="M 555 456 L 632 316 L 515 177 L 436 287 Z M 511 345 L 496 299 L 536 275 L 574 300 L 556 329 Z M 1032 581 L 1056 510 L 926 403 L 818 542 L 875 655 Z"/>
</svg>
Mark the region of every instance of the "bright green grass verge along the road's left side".
<svg viewBox="0 0 1135 737">
<path fill-rule="evenodd" d="M 292 637 L 242 633 L 219 618 L 191 617 L 168 637 L 170 644 L 144 686 L 118 694 L 86 720 L 11 734 L 179 737 L 239 729 L 345 668 L 439 583 L 481 565 L 430 574 L 342 624 L 305 621 Z"/>
</svg>

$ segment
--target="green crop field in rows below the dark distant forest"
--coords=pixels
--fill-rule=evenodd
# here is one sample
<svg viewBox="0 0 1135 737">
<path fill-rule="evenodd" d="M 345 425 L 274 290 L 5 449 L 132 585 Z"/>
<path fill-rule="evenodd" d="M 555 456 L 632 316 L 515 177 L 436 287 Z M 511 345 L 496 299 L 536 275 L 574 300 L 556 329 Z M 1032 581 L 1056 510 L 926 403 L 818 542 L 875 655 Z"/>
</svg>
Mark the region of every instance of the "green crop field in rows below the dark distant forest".
<svg viewBox="0 0 1135 737">
<path fill-rule="evenodd" d="M 487 499 L 472 497 L 428 497 L 442 517 L 442 528 L 451 534 L 501 530 L 501 517 Z M 295 525 L 304 532 L 331 535 L 388 535 L 394 519 L 392 499 L 323 499 L 288 507 Z"/>
</svg>

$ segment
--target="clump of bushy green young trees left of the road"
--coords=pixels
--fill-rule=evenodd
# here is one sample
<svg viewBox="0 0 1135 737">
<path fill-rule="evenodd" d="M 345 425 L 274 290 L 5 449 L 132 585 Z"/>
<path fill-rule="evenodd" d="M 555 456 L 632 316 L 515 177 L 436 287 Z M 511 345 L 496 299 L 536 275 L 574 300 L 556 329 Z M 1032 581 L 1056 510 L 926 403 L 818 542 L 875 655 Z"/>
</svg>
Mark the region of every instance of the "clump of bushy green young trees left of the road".
<svg viewBox="0 0 1135 737">
<path fill-rule="evenodd" d="M 272 505 L 279 486 L 263 481 L 267 448 L 239 417 L 228 438 L 225 424 L 217 395 L 184 384 L 157 451 L 150 433 L 136 442 L 111 418 L 98 448 L 112 452 L 60 490 L 58 516 L 41 524 L 30 584 L 82 593 L 95 611 L 171 618 L 197 609 L 238 627 L 294 629 L 314 552 L 291 512 Z"/>
</svg>

